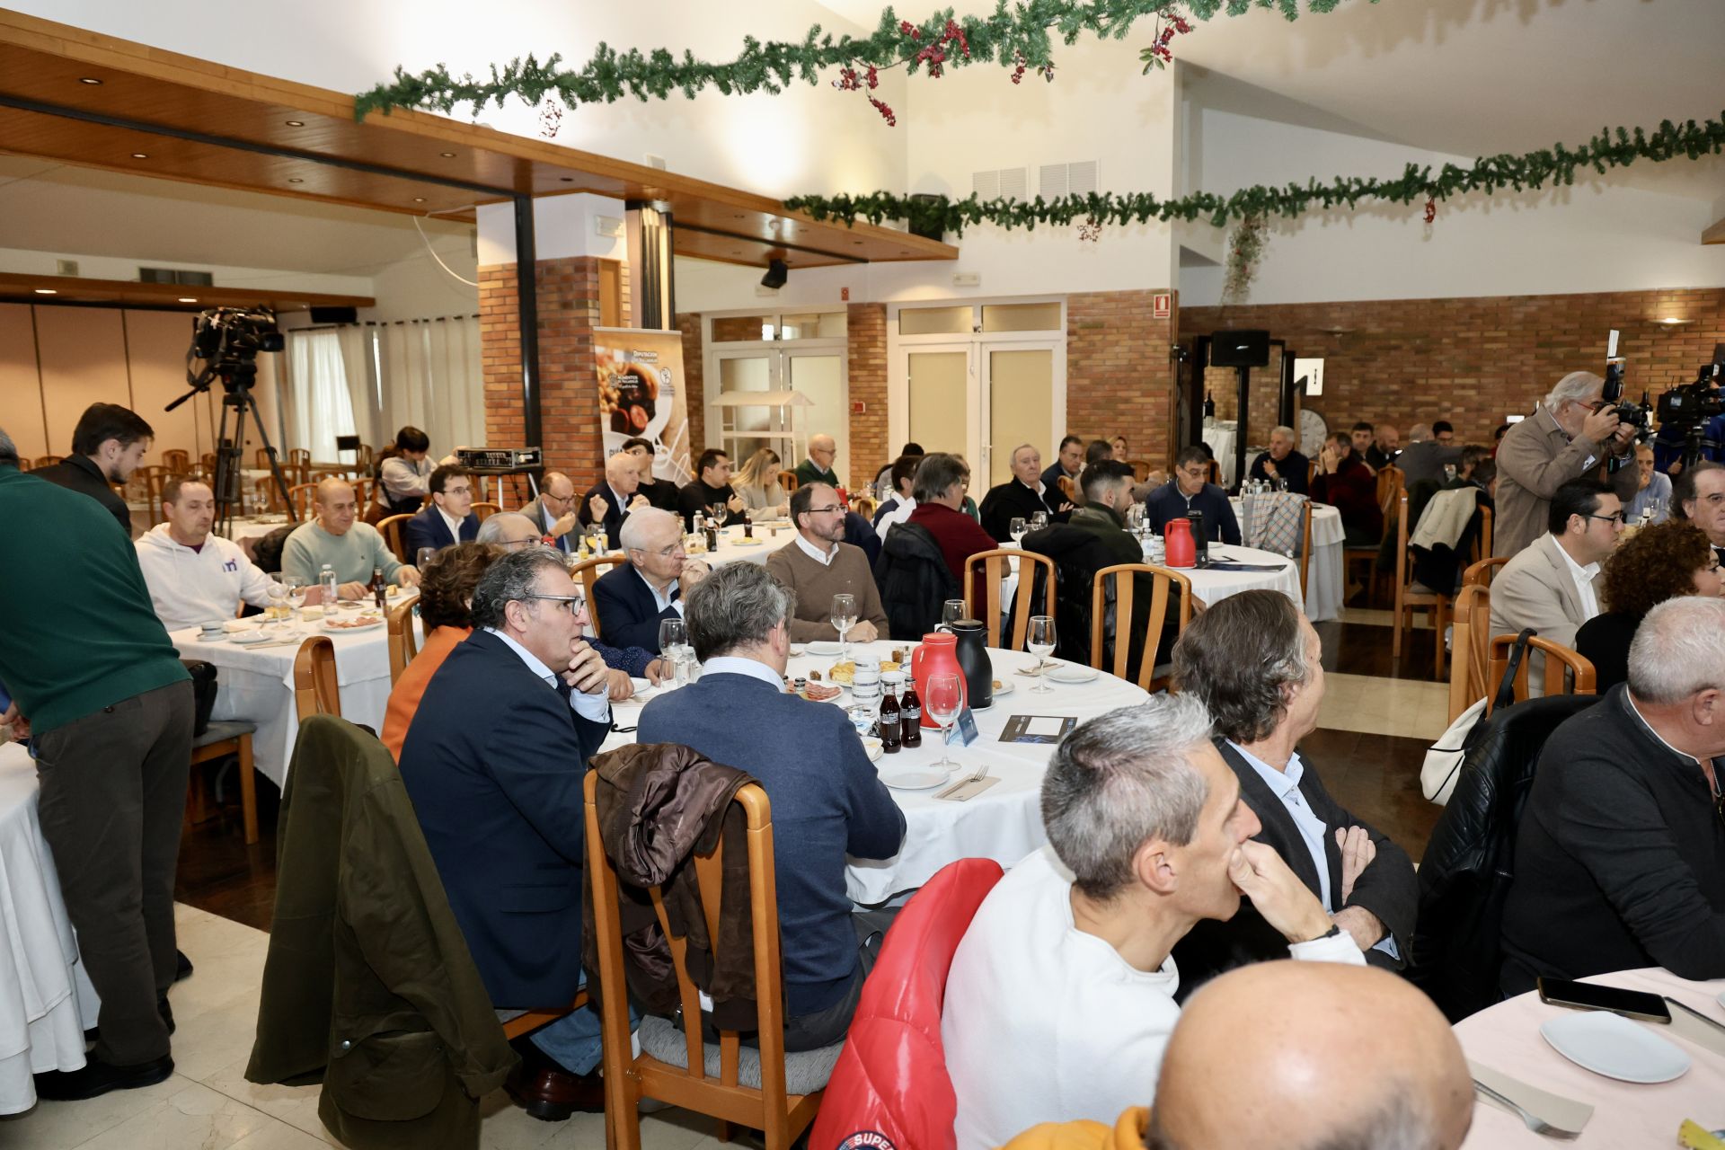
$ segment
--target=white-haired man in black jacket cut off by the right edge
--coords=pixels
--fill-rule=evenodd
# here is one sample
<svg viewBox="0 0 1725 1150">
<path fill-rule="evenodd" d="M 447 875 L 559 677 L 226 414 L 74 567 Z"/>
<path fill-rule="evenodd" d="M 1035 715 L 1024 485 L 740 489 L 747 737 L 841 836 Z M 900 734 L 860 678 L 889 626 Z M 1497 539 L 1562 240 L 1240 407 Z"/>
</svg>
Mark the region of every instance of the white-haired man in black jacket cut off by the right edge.
<svg viewBox="0 0 1725 1150">
<path fill-rule="evenodd" d="M 1635 631 L 1628 683 L 1540 750 L 1504 903 L 1504 993 L 1649 966 L 1725 978 L 1720 755 L 1725 600 L 1668 598 Z"/>
</svg>

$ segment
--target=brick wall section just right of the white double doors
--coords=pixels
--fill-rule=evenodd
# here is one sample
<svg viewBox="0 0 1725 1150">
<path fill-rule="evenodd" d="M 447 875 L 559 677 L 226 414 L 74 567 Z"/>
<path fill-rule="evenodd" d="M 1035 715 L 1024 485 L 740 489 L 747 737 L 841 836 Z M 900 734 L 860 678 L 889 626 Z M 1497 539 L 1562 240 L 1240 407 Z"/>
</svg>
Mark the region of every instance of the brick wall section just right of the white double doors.
<svg viewBox="0 0 1725 1150">
<path fill-rule="evenodd" d="M 1152 319 L 1152 295 L 1088 291 L 1066 298 L 1066 433 L 1087 441 L 1123 434 L 1133 460 L 1164 466 L 1175 428 L 1170 353 L 1185 317 L 1176 297 L 1175 319 Z M 1056 443 L 1044 448 L 1044 459 L 1052 459 Z"/>
</svg>

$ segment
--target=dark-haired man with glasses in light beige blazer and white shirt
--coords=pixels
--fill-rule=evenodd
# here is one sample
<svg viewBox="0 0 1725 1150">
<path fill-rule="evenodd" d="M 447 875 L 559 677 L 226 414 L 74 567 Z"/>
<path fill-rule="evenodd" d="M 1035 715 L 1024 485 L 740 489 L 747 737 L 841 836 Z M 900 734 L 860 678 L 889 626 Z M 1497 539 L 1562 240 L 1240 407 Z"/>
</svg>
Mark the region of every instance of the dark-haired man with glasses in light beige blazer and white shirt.
<svg viewBox="0 0 1725 1150">
<path fill-rule="evenodd" d="M 1597 479 L 1570 479 L 1552 493 L 1546 526 L 1492 579 L 1492 634 L 1534 628 L 1542 640 L 1575 647 L 1577 628 L 1601 612 L 1594 576 L 1623 531 L 1623 505 Z M 1530 660 L 1528 691 L 1537 695 L 1539 683 Z"/>
</svg>

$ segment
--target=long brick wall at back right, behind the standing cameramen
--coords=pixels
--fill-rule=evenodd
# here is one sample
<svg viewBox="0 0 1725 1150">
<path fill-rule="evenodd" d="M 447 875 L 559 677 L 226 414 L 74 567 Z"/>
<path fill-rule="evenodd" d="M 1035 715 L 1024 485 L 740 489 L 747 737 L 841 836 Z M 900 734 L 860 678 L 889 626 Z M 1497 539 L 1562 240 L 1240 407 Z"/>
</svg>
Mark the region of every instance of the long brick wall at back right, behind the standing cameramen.
<svg viewBox="0 0 1725 1150">
<path fill-rule="evenodd" d="M 1696 322 L 1658 322 L 1668 316 Z M 1266 328 L 1292 352 L 1321 357 L 1323 395 L 1308 405 L 1332 429 L 1392 422 L 1406 443 L 1413 422 L 1449 419 L 1459 440 L 1490 443 L 1506 414 L 1532 410 L 1566 372 L 1603 374 L 1611 328 L 1622 331 L 1628 398 L 1689 383 L 1725 341 L 1725 290 L 1192 307 L 1180 316 L 1185 336 L 1218 328 Z M 1258 426 L 1256 391 L 1252 402 Z"/>
</svg>

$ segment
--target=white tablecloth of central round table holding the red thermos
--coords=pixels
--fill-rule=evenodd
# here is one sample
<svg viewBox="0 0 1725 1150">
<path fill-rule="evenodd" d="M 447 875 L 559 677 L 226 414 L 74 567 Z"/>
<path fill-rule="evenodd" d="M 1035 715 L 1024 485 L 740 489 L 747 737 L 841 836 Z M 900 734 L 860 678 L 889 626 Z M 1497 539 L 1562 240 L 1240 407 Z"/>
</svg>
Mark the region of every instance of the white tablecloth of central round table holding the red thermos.
<svg viewBox="0 0 1725 1150">
<path fill-rule="evenodd" d="M 881 657 L 887 657 L 897 647 L 909 659 L 913 645 L 880 640 L 876 643 L 854 643 L 852 647 L 856 650 L 875 652 Z M 904 850 L 897 857 L 881 862 L 852 859 L 845 872 L 845 886 L 852 902 L 864 905 L 887 902 L 897 893 L 921 886 L 940 867 L 957 859 L 994 859 L 1000 866 L 1011 866 L 1047 840 L 1042 829 L 1040 788 L 1042 774 L 1047 771 L 1049 757 L 1054 753 L 1054 745 L 997 741 L 1007 719 L 1014 714 L 1073 716 L 1083 721 L 1104 710 L 1142 703 L 1149 698 L 1145 691 L 1111 674 L 1101 674 L 1094 681 L 1076 686 L 1051 683 L 1054 693 L 1032 695 L 1030 688 L 1035 684 L 1035 679 L 1013 674 L 1019 667 L 1035 666 L 1032 655 L 992 648 L 988 655 L 994 660 L 994 678 L 1011 683 L 1013 693 L 997 695 L 994 707 L 975 712 L 976 741 L 969 747 L 954 747 L 952 759 L 969 771 L 987 762 L 988 774 L 999 779 L 999 783 L 976 798 L 961 803 L 937 800 L 935 795 L 942 788 L 892 791 L 892 797 L 904 810 Z M 787 674 L 806 676 L 811 669 L 825 672 L 833 662 L 837 659 L 831 655 L 797 655 L 790 660 Z M 849 698 L 850 695 L 845 691 L 833 700 L 833 705 L 842 705 Z M 633 726 L 640 716 L 640 705 L 618 705 L 614 709 L 618 724 Z M 635 741 L 631 733 L 612 733 L 605 740 L 604 748 L 612 750 L 631 741 Z M 921 747 L 913 747 L 895 755 L 883 755 L 880 762 L 883 766 L 938 762 L 938 731 L 923 731 Z M 735 766 L 749 767 L 749 764 Z"/>
</svg>

